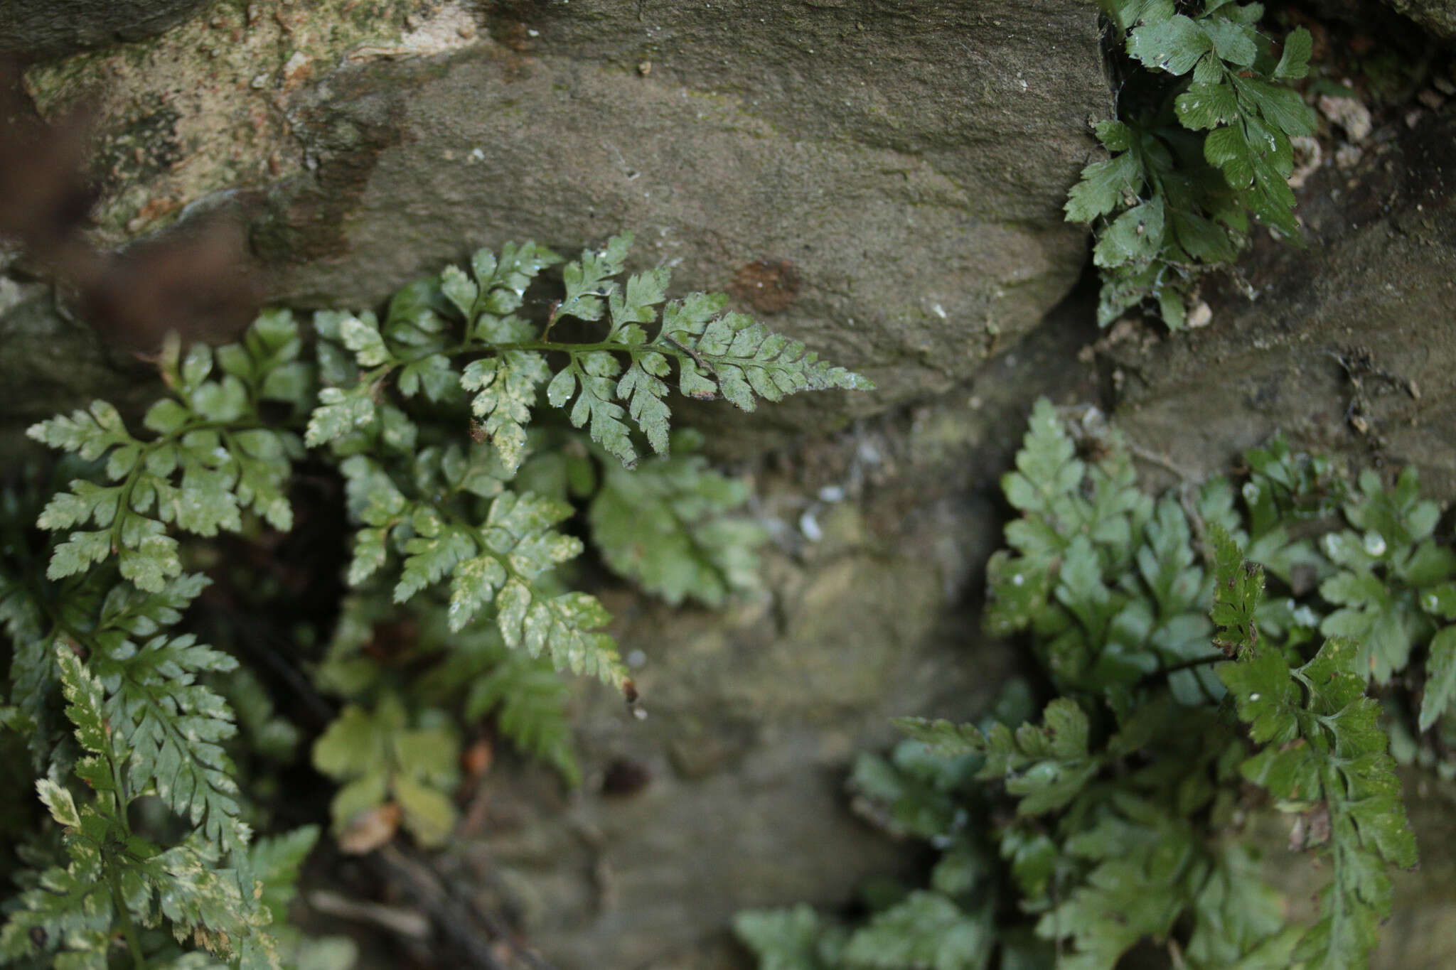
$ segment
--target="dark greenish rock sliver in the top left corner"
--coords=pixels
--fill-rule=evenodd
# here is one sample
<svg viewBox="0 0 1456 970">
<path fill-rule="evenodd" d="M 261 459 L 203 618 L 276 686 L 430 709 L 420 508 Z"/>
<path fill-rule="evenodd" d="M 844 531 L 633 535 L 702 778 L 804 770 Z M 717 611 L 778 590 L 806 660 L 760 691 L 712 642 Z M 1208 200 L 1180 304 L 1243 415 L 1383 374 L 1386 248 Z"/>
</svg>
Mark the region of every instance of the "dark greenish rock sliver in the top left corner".
<svg viewBox="0 0 1456 970">
<path fill-rule="evenodd" d="M 213 0 L 4 0 L 0 54 L 66 57 L 77 51 L 154 36 L 211 6 Z"/>
</svg>

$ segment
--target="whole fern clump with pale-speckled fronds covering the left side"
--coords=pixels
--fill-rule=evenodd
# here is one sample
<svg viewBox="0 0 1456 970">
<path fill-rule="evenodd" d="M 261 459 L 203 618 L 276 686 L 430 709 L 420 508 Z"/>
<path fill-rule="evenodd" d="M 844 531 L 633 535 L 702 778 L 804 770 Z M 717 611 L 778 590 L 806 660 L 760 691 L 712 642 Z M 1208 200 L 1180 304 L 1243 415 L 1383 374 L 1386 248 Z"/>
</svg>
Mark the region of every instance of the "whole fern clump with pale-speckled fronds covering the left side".
<svg viewBox="0 0 1456 970">
<path fill-rule="evenodd" d="M 421 843 L 444 839 L 450 710 L 494 714 L 505 736 L 578 777 L 559 672 L 622 686 L 625 670 L 606 609 L 553 573 L 584 548 L 559 529 L 569 499 L 591 502 L 610 567 L 674 602 L 716 604 L 753 583 L 763 535 L 732 518 L 744 490 L 667 454 L 668 381 L 747 410 L 869 382 L 727 311 L 724 297 L 667 300 L 665 269 L 620 279 L 629 243 L 565 265 L 546 320 L 518 311 L 561 257 L 507 244 L 478 252 L 469 272 L 411 284 L 381 316 L 320 311 L 313 340 L 277 310 L 217 350 L 167 343 L 169 393 L 135 433 L 105 401 L 31 428 L 71 452 L 71 478 L 33 518 L 44 544 L 19 493 L 6 493 L 0 718 L 25 739 L 63 836 L 29 843 L 0 961 L 100 969 L 121 950 L 137 967 L 275 967 L 304 945 L 277 921 L 316 830 L 252 838 L 227 750 L 239 726 L 223 685 L 237 660 L 178 627 L 208 585 L 186 567 L 186 537 L 290 529 L 306 454 L 338 467 L 355 526 L 355 592 L 316 672 L 347 701 L 313 753 L 342 782 L 341 836 L 389 807 Z M 568 318 L 598 339 L 553 337 Z M 531 429 L 540 396 L 584 430 Z M 657 457 L 623 478 L 639 442 Z M 563 467 L 569 476 L 553 476 Z M 630 518 L 646 528 L 629 535 Z M 409 682 L 363 650 L 402 612 L 430 660 Z M 138 826 L 140 800 L 165 806 L 173 822 L 160 830 L 175 838 Z"/>
</svg>

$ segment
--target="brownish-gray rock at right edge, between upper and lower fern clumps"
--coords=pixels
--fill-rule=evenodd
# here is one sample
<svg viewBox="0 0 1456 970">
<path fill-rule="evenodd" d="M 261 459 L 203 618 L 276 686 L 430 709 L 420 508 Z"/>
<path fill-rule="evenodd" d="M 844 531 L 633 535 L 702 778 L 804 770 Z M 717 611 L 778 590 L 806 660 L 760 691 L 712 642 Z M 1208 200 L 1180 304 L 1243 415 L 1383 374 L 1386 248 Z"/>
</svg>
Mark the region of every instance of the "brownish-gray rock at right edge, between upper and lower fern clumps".
<svg viewBox="0 0 1456 970">
<path fill-rule="evenodd" d="M 1120 425 L 1149 452 L 1203 476 L 1284 429 L 1456 494 L 1456 112 L 1415 121 L 1309 182 L 1309 247 L 1241 263 L 1257 300 L 1224 294 L 1206 330 L 1114 352 Z"/>
</svg>

